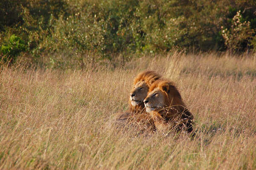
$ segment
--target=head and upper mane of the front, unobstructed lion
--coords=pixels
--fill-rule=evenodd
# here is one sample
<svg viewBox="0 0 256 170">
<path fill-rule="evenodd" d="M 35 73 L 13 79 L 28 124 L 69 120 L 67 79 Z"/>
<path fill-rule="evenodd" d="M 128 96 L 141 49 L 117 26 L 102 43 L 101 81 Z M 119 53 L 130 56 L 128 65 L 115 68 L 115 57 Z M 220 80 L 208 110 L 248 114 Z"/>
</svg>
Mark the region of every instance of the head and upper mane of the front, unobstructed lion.
<svg viewBox="0 0 256 170">
<path fill-rule="evenodd" d="M 182 108 L 184 110 L 185 107 L 174 83 L 166 79 L 159 79 L 151 85 L 144 99 L 144 105 L 148 113 L 169 106 L 173 106 L 178 111 L 182 111 Z"/>
</svg>

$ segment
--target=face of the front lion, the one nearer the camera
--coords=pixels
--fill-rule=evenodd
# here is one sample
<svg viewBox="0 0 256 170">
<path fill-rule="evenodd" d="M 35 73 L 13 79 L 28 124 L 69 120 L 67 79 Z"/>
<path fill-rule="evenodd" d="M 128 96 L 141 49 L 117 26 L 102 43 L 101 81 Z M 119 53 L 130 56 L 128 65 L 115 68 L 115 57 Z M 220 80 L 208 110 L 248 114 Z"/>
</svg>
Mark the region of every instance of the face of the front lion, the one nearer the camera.
<svg viewBox="0 0 256 170">
<path fill-rule="evenodd" d="M 144 99 L 144 105 L 146 112 L 160 110 L 166 106 L 165 94 L 159 88 L 155 88 L 148 93 L 148 96 Z"/>
</svg>

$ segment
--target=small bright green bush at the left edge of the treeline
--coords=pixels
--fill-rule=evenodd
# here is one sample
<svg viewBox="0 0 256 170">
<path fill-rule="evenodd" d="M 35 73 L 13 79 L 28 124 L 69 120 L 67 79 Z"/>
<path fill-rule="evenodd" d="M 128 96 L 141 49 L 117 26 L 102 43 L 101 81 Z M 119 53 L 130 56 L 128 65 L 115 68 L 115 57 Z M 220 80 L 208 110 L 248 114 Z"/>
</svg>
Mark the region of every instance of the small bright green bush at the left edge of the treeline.
<svg viewBox="0 0 256 170">
<path fill-rule="evenodd" d="M 22 51 L 26 51 L 25 42 L 13 34 L 5 44 L 1 45 L 1 60 L 3 62 L 15 62 L 16 57 Z"/>
</svg>

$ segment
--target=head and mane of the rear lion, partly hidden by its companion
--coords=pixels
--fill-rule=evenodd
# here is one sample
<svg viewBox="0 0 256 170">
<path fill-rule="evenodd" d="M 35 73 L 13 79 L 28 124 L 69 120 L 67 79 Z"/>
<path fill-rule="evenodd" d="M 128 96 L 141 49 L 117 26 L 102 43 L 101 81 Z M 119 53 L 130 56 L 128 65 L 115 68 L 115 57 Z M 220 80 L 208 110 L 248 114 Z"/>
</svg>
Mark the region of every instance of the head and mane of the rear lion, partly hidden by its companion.
<svg viewBox="0 0 256 170">
<path fill-rule="evenodd" d="M 133 88 L 130 92 L 130 109 L 136 111 L 144 108 L 143 100 L 148 94 L 149 87 L 160 75 L 154 71 L 143 71 L 138 74 L 133 83 Z"/>
</svg>

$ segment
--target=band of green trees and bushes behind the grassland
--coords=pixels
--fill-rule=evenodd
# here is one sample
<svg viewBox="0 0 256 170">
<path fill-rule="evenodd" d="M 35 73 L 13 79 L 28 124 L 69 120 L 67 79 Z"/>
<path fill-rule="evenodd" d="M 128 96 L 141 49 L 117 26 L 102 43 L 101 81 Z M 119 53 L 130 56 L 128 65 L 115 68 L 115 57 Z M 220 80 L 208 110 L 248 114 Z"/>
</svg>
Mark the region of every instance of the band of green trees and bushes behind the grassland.
<svg viewBox="0 0 256 170">
<path fill-rule="evenodd" d="M 256 51 L 255 0 L 1 0 L 1 62 L 84 68 L 178 49 Z"/>
</svg>

